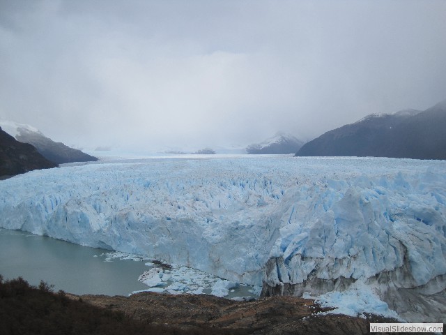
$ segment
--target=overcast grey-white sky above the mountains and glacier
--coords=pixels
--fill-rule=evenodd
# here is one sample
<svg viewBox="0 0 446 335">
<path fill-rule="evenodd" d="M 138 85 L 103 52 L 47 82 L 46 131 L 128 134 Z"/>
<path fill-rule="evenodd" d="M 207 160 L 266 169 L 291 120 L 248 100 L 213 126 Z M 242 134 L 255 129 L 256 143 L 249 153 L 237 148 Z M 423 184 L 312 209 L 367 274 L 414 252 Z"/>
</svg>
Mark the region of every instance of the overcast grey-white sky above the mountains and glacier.
<svg viewBox="0 0 446 335">
<path fill-rule="evenodd" d="M 0 0 L 0 118 L 83 148 L 311 140 L 446 99 L 446 1 Z"/>
</svg>

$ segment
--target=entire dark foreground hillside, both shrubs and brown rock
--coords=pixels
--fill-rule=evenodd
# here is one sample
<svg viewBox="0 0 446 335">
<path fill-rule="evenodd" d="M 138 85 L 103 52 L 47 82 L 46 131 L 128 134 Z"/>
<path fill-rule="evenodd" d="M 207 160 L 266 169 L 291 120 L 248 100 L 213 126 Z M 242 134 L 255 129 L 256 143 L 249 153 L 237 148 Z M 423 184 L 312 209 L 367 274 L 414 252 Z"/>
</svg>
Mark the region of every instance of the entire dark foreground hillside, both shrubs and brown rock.
<svg viewBox="0 0 446 335">
<path fill-rule="evenodd" d="M 367 334 L 375 315 L 321 315 L 310 299 L 231 301 L 208 295 L 130 297 L 52 293 L 22 278 L 1 280 L 0 334 Z"/>
</svg>

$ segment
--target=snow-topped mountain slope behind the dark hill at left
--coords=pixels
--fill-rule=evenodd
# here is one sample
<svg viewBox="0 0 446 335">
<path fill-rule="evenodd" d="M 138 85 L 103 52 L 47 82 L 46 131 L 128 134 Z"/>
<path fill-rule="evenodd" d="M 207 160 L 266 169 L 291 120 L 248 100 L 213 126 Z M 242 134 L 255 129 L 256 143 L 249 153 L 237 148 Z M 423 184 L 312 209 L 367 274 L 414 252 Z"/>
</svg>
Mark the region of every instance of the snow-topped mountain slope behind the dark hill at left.
<svg viewBox="0 0 446 335">
<path fill-rule="evenodd" d="M 19 142 L 32 144 L 42 156 L 56 164 L 98 161 L 98 158 L 84 154 L 80 150 L 72 149 L 61 142 L 54 142 L 37 128 L 27 124 L 0 121 L 0 126 Z"/>
</svg>

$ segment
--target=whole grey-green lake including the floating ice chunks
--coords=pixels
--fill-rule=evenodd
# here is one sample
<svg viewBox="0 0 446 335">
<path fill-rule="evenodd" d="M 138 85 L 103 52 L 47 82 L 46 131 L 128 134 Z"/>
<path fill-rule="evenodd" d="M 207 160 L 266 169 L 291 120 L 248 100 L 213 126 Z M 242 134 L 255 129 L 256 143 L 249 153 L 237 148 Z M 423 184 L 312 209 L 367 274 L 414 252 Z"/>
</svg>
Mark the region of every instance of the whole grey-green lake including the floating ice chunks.
<svg viewBox="0 0 446 335">
<path fill-rule="evenodd" d="M 155 273 L 153 270 L 159 270 L 160 265 L 138 255 L 0 228 L 0 274 L 5 279 L 22 276 L 31 285 L 38 285 L 43 280 L 54 285 L 55 291 L 64 290 L 77 295 L 130 295 L 135 291 L 152 290 L 235 298 L 258 297 L 261 289 L 224 281 L 182 265 L 162 265 L 162 268 L 160 274 Z M 154 278 L 157 279 L 154 282 L 151 277 L 152 287 L 138 281 L 139 276 L 149 270 L 152 272 L 146 277 L 155 273 Z M 227 290 L 222 290 L 222 285 Z"/>
</svg>

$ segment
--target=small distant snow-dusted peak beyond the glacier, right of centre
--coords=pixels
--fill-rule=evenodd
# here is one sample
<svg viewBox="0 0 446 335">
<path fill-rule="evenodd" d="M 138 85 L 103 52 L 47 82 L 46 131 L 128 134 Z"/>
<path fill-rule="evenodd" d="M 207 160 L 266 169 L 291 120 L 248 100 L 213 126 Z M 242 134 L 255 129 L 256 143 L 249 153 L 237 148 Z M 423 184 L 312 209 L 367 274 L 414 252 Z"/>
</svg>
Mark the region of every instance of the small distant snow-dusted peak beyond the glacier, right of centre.
<svg viewBox="0 0 446 335">
<path fill-rule="evenodd" d="M 248 154 L 294 154 L 303 144 L 304 142 L 292 135 L 277 133 L 268 140 L 249 145 L 246 152 Z"/>
</svg>

